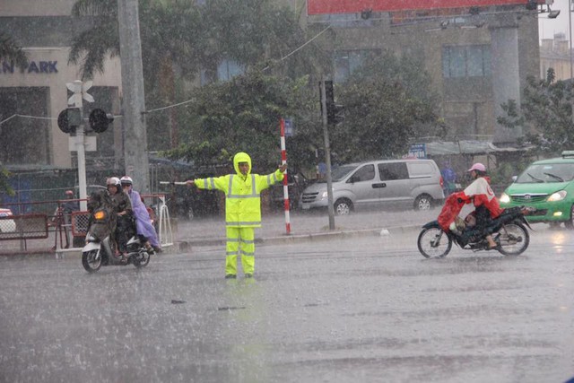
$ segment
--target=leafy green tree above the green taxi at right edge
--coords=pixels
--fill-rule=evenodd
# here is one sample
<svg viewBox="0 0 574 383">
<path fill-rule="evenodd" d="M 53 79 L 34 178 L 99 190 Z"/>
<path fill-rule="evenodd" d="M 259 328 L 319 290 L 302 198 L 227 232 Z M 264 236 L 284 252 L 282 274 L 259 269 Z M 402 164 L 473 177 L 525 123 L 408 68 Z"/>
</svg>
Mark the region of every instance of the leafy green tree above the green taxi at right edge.
<svg viewBox="0 0 574 383">
<path fill-rule="evenodd" d="M 497 118 L 502 126 L 520 126 L 525 135 L 520 144 L 533 144 L 537 152 L 555 153 L 574 147 L 571 81 L 556 81 L 551 68 L 543 80 L 528 77 L 520 108 L 516 100 L 501 105 L 506 116 Z"/>
</svg>

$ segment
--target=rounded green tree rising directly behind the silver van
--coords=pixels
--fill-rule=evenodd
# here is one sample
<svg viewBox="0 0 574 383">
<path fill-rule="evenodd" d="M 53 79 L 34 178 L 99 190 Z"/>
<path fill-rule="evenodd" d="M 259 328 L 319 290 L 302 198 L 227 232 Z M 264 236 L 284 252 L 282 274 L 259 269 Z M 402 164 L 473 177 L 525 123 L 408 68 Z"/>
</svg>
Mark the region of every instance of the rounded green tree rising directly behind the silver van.
<svg viewBox="0 0 574 383">
<path fill-rule="evenodd" d="M 396 158 L 417 136 L 444 135 L 431 78 L 415 57 L 370 57 L 341 86 L 344 122 L 331 128 L 336 161 Z"/>
</svg>

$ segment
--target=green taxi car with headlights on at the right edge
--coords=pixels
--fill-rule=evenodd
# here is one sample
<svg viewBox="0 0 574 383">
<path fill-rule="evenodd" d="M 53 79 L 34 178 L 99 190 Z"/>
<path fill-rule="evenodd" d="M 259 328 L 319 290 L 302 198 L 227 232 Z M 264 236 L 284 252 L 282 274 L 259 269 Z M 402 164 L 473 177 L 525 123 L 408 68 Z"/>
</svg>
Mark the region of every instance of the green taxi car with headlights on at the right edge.
<svg viewBox="0 0 574 383">
<path fill-rule="evenodd" d="M 574 151 L 561 158 L 535 161 L 500 196 L 500 207 L 531 206 L 528 222 L 574 229 Z"/>
</svg>

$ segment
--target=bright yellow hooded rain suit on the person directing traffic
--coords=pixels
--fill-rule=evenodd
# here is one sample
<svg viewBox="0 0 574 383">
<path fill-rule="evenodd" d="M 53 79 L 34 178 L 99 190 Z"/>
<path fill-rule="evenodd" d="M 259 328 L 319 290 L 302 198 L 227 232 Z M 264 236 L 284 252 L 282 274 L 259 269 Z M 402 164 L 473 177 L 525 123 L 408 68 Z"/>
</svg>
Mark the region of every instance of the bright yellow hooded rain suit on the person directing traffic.
<svg viewBox="0 0 574 383">
<path fill-rule="evenodd" d="M 247 175 L 239 171 L 239 162 L 248 162 Z M 196 187 L 217 189 L 225 193 L 225 226 L 227 233 L 225 274 L 237 274 L 237 257 L 241 257 L 244 274 L 255 271 L 255 230 L 261 227 L 261 191 L 283 180 L 283 172 L 261 176 L 251 174 L 251 158 L 245 152 L 233 157 L 237 174 L 194 179 Z"/>
</svg>

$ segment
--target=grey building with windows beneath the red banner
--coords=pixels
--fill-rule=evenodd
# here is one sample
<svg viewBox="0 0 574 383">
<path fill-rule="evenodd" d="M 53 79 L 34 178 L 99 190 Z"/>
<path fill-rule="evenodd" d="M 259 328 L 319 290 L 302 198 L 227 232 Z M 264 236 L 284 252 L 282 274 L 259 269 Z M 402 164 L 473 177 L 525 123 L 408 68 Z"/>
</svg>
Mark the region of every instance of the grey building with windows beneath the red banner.
<svg viewBox="0 0 574 383">
<path fill-rule="evenodd" d="M 335 82 L 383 49 L 419 57 L 439 92 L 439 114 L 449 138 L 511 145 L 522 132 L 497 124 L 500 104 L 519 102 L 526 77 L 540 71 L 537 11 L 525 4 L 385 13 L 365 9 L 309 14 L 306 23 L 334 30 L 323 41 L 333 54 Z"/>
</svg>

